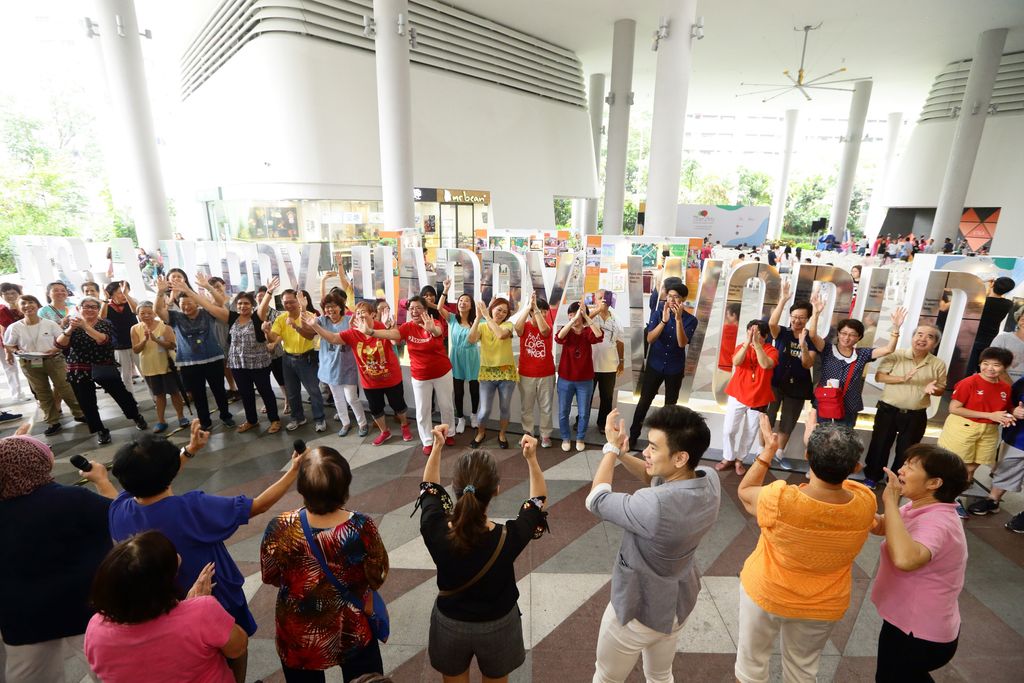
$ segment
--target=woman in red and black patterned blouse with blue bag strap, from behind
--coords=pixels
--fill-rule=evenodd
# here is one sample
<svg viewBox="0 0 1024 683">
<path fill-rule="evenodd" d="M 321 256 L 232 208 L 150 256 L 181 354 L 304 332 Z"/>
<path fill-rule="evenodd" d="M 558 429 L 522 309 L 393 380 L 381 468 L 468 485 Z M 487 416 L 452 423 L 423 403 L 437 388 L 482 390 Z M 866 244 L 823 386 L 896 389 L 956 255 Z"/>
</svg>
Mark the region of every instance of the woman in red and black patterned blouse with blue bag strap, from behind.
<svg viewBox="0 0 1024 683">
<path fill-rule="evenodd" d="M 267 524 L 260 545 L 263 583 L 278 586 L 278 654 L 285 680 L 324 681 L 341 667 L 345 681 L 383 673 L 380 645 L 367 618 L 372 590 L 388 572 L 387 551 L 373 520 L 345 509 L 352 471 L 334 449 L 313 449 L 299 468 L 304 507 Z M 342 597 L 324 573 L 302 529 L 305 515 L 328 568 L 364 604 Z"/>
</svg>

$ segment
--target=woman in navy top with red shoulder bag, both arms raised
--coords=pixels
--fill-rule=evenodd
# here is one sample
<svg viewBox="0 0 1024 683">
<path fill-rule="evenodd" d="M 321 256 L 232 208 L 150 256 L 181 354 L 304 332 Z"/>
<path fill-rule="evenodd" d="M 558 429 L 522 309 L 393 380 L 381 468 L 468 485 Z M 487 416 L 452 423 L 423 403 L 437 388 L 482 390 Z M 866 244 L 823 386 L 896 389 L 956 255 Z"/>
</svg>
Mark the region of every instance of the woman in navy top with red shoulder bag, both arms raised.
<svg viewBox="0 0 1024 683">
<path fill-rule="evenodd" d="M 817 356 L 821 356 L 821 372 L 818 377 L 818 386 L 828 386 L 833 381 L 843 390 L 843 417 L 838 419 L 827 419 L 818 416 L 817 400 L 811 402 L 815 410 L 811 413 L 810 420 L 804 432 L 810 435 L 818 422 L 842 422 L 853 427 L 857 424 L 857 414 L 864 409 L 864 369 L 872 360 L 889 355 L 896 350 L 899 342 L 899 329 L 906 317 L 905 308 L 896 308 L 890 321 L 892 322 L 892 332 L 889 333 L 889 344 L 880 348 L 857 348 L 857 344 L 864 337 L 864 324 L 852 317 L 844 318 L 836 326 L 836 342 L 826 342 L 818 336 L 818 315 L 824 310 L 824 301 L 819 294 L 811 297 L 811 319 L 807 322 L 807 344 L 802 349 L 802 362 L 805 368 L 811 368 Z M 850 366 L 853 372 L 850 372 Z M 847 384 L 846 378 L 850 377 Z"/>
</svg>

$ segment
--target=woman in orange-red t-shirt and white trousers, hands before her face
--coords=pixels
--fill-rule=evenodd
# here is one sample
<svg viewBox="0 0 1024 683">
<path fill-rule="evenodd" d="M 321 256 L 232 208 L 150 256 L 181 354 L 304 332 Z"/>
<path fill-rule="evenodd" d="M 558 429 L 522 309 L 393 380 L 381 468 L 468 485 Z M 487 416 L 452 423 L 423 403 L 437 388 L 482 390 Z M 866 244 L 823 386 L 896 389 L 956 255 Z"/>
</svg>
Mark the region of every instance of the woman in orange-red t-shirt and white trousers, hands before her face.
<svg viewBox="0 0 1024 683">
<path fill-rule="evenodd" d="M 736 468 L 743 474 L 743 458 L 754 445 L 758 420 L 774 400 L 771 376 L 778 365 L 778 350 L 768 343 L 768 324 L 751 321 L 746 324 L 746 339 L 732 355 L 732 379 L 725 387 L 729 400 L 725 407 L 722 432 L 722 462 L 715 466 L 722 471 Z"/>
</svg>

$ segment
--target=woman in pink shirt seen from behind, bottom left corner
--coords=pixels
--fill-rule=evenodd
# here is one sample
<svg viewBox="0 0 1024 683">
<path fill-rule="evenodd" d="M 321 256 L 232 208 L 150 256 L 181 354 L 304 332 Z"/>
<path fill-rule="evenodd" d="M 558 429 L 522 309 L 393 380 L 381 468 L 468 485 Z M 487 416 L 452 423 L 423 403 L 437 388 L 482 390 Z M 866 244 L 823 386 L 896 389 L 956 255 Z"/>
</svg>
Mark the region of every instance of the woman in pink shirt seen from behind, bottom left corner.
<svg viewBox="0 0 1024 683">
<path fill-rule="evenodd" d="M 145 531 L 100 563 L 85 656 L 104 683 L 234 683 L 225 657 L 243 656 L 249 637 L 210 595 L 212 562 L 180 599 L 179 562 L 166 536 Z"/>
</svg>

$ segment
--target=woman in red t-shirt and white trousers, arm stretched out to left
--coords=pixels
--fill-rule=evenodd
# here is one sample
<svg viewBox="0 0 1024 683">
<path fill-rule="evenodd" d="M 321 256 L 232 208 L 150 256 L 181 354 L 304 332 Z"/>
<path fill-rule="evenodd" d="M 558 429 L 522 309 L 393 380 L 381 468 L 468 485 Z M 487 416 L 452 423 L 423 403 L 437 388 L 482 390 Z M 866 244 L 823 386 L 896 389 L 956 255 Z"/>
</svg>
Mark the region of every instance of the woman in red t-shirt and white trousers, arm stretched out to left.
<svg viewBox="0 0 1024 683">
<path fill-rule="evenodd" d="M 455 404 L 452 401 L 452 361 L 441 328 L 427 314 L 427 304 L 422 297 L 409 300 L 409 322 L 395 330 L 377 330 L 375 336 L 391 341 L 404 340 L 409 345 L 409 359 L 412 365 L 413 395 L 416 398 L 416 427 L 423 443 L 423 454 L 430 455 L 433 447 L 433 423 L 430 419 L 431 397 L 437 400 L 441 414 L 441 424 L 451 425 L 455 421 Z M 455 443 L 455 437 L 449 437 Z"/>
</svg>

